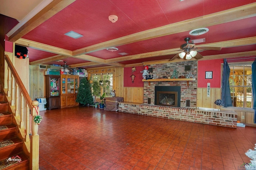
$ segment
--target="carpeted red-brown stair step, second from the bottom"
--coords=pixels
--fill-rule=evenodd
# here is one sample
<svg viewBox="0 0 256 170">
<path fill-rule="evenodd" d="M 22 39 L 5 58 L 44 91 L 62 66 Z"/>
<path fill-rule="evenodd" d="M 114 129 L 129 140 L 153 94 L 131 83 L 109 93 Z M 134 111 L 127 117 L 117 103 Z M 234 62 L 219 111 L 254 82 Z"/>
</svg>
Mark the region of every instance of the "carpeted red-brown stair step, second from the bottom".
<svg viewBox="0 0 256 170">
<path fill-rule="evenodd" d="M 23 141 L 18 137 L 0 141 L 0 160 L 22 152 Z"/>
</svg>

